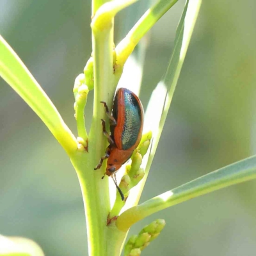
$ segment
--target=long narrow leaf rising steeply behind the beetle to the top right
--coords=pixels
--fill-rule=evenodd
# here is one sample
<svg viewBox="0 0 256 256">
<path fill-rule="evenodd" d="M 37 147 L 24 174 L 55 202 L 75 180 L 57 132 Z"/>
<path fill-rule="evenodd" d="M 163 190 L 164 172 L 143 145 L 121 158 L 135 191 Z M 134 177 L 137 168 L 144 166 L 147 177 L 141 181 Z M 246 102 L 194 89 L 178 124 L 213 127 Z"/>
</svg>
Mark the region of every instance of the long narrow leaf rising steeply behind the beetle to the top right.
<svg viewBox="0 0 256 256">
<path fill-rule="evenodd" d="M 153 132 L 153 143 L 149 156 L 147 154 L 144 157 L 144 159 L 147 159 L 148 157 L 147 166 L 145 166 L 145 176 L 143 180 L 141 180 L 139 186 L 136 186 L 131 191 L 130 196 L 136 198 L 136 200 L 131 203 L 132 206 L 138 204 L 143 187 L 147 180 L 147 175 L 156 153 L 156 148 L 163 131 L 164 122 L 172 102 L 173 93 L 188 50 L 191 35 L 195 28 L 195 22 L 198 17 L 201 2 L 202 0 L 188 0 L 186 2 L 177 27 L 175 45 L 168 68 L 163 79 L 157 84 L 156 89 L 152 93 L 150 102 L 148 103 L 144 127 Z M 131 204 L 128 202 L 124 209 L 131 207 Z"/>
</svg>

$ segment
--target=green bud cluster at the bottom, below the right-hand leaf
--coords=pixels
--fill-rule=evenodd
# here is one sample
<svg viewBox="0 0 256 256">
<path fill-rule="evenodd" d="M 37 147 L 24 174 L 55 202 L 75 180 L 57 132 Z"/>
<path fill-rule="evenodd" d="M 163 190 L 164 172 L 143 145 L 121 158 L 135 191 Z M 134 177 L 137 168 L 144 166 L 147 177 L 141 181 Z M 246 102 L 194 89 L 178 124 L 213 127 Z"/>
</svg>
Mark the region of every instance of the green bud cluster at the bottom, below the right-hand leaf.
<svg viewBox="0 0 256 256">
<path fill-rule="evenodd" d="M 164 226 L 165 221 L 159 219 L 144 227 L 138 235 L 131 236 L 125 244 L 125 256 L 140 255 L 141 251 L 159 236 Z"/>
</svg>

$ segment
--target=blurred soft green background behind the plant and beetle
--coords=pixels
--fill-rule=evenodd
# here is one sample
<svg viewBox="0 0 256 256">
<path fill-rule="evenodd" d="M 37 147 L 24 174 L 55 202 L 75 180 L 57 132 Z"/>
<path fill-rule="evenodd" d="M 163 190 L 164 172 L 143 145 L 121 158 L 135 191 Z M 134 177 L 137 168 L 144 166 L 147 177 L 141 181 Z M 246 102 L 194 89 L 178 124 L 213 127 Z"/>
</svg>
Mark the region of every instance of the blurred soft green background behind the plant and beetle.
<svg viewBox="0 0 256 256">
<path fill-rule="evenodd" d="M 256 3 L 203 2 L 141 202 L 256 152 Z M 147 4 L 118 15 L 116 43 Z M 145 107 L 166 70 L 183 5 L 179 1 L 147 36 Z M 92 51 L 90 8 L 88 0 L 0 1 L 1 35 L 75 134 L 72 87 Z M 0 83 L 0 233 L 29 237 L 45 255 L 87 255 L 83 201 L 68 157 L 38 116 Z M 253 180 L 158 212 L 129 234 L 164 218 L 166 228 L 143 255 L 255 255 L 255 185 Z"/>
</svg>

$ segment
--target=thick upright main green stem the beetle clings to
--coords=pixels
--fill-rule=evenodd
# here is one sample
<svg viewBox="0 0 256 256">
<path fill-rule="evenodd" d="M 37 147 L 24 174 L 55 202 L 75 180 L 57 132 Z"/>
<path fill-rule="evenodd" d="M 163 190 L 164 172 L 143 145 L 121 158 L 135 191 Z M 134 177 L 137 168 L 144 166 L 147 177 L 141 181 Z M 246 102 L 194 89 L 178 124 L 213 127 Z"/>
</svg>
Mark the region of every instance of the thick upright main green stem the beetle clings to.
<svg viewBox="0 0 256 256">
<path fill-rule="evenodd" d="M 93 1 L 92 15 L 106 1 Z M 95 20 L 95 17 L 93 18 Z M 93 23 L 93 22 L 92 22 Z M 93 72 L 94 72 L 94 102 L 92 127 L 88 137 L 88 154 L 78 156 L 72 163 L 83 194 L 88 233 L 88 250 L 90 256 L 107 255 L 107 226 L 106 221 L 110 211 L 108 179 L 101 179 L 104 175 L 106 163 L 100 170 L 93 170 L 104 154 L 107 141 L 102 134 L 101 118 L 106 114 L 100 101 L 107 104 L 113 100 L 115 88 L 113 84 L 113 20 L 104 31 L 99 31 L 92 24 L 93 41 Z M 87 170 L 86 170 L 87 169 Z"/>
</svg>

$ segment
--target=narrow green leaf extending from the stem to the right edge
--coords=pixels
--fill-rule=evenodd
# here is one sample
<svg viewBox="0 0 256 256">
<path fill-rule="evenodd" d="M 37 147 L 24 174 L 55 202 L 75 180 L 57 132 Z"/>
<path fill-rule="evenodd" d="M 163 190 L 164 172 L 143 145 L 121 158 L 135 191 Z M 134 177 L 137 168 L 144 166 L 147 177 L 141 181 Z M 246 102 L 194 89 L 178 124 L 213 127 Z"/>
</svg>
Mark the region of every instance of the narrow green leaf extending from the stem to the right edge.
<svg viewBox="0 0 256 256">
<path fill-rule="evenodd" d="M 122 213 L 116 227 L 127 231 L 137 221 L 191 198 L 256 178 L 256 156 L 244 159 L 192 180 Z"/>
</svg>

